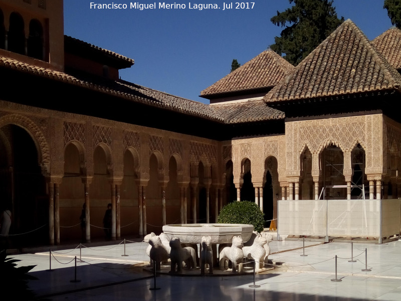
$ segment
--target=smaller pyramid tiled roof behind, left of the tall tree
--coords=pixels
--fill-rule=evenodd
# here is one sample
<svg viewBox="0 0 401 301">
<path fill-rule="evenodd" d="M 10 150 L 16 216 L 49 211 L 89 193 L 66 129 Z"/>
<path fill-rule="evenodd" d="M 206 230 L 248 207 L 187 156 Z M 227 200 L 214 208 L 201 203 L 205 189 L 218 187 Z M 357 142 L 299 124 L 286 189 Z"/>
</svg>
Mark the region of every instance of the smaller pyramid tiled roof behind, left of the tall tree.
<svg viewBox="0 0 401 301">
<path fill-rule="evenodd" d="M 200 92 L 200 96 L 272 87 L 293 69 L 294 66 L 277 53 L 266 50 Z"/>
</svg>

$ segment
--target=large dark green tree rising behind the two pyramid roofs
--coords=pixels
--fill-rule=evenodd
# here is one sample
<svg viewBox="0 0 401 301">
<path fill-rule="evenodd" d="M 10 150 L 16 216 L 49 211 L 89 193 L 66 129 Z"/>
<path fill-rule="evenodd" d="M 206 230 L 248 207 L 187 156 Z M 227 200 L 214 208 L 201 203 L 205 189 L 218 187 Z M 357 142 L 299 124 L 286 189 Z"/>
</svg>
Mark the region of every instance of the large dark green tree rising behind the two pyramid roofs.
<svg viewBox="0 0 401 301">
<path fill-rule="evenodd" d="M 275 44 L 270 48 L 293 65 L 299 64 L 344 18 L 337 18 L 333 1 L 329 0 L 289 0 L 294 5 L 284 12 L 277 12 L 270 21 L 285 27 Z M 288 24 L 288 25 L 287 25 Z"/>
</svg>

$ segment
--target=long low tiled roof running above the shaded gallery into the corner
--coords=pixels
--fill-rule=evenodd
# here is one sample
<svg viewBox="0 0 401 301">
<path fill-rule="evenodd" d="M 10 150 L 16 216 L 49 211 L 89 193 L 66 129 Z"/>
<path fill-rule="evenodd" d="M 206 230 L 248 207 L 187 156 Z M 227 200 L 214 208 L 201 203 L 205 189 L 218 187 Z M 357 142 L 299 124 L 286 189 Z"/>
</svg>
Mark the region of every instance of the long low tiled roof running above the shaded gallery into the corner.
<svg viewBox="0 0 401 301">
<path fill-rule="evenodd" d="M 223 123 L 280 119 L 283 117 L 281 111 L 267 107 L 267 105 L 262 101 L 254 101 L 253 103 L 236 103 L 231 105 L 207 105 L 122 80 L 107 81 L 107 84 L 106 82 L 97 82 L 96 80 L 91 82 L 81 80 L 64 72 L 41 68 L 7 57 L 0 57 L 0 67 L 57 80 L 93 91 L 107 93 L 109 95 L 129 99 L 133 102 L 143 103 L 149 106 L 155 106 Z M 224 107 L 227 108 L 226 111 L 222 110 Z"/>
</svg>

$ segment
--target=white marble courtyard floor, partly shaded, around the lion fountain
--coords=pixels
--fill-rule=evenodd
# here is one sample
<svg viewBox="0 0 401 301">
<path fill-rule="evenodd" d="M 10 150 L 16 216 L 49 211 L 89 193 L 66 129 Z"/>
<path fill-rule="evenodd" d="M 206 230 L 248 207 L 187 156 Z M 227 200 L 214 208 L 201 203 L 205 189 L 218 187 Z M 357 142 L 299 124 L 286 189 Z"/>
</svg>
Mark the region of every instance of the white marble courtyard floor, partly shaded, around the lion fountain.
<svg viewBox="0 0 401 301">
<path fill-rule="evenodd" d="M 401 300 L 401 241 L 387 244 L 272 241 L 269 259 L 282 262 L 271 273 L 244 276 L 154 278 L 138 266 L 148 260 L 145 243 L 12 255 L 20 265 L 36 264 L 30 287 L 51 300 Z M 365 249 L 367 253 L 365 253 Z M 81 255 L 80 255 L 81 254 Z M 367 254 L 367 263 L 365 263 Z M 337 255 L 337 279 L 335 256 Z M 84 262 L 77 262 L 80 256 Z M 50 259 L 51 258 L 51 259 Z M 51 264 L 54 271 L 47 271 Z M 371 271 L 362 271 L 365 267 Z M 76 271 L 76 276 L 75 276 Z M 71 282 L 74 279 L 80 282 Z"/>
</svg>

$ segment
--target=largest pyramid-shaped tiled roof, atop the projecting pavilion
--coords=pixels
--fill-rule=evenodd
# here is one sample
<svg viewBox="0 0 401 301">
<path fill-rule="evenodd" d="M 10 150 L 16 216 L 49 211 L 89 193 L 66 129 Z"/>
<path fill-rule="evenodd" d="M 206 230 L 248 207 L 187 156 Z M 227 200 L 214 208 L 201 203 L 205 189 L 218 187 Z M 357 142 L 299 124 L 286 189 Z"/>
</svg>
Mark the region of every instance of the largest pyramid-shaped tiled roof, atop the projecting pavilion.
<svg viewBox="0 0 401 301">
<path fill-rule="evenodd" d="M 401 76 L 352 21 L 341 24 L 265 101 L 399 89 Z"/>
</svg>

